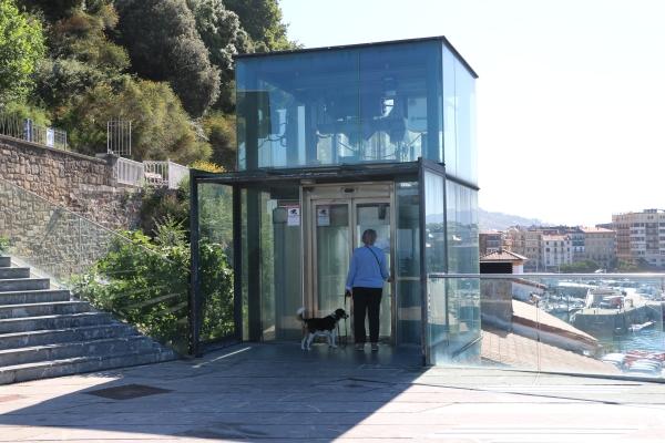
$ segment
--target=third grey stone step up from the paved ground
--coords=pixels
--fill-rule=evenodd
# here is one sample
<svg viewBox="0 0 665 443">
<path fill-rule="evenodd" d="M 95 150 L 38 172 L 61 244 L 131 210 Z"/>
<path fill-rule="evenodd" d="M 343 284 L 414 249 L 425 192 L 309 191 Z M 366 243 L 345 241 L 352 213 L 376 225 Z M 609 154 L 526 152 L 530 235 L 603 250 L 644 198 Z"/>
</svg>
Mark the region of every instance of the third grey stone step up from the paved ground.
<svg viewBox="0 0 665 443">
<path fill-rule="evenodd" d="M 101 340 L 135 336 L 136 331 L 125 323 L 84 326 L 80 328 L 47 329 L 0 334 L 0 350 L 29 348 L 72 341 Z"/>
</svg>

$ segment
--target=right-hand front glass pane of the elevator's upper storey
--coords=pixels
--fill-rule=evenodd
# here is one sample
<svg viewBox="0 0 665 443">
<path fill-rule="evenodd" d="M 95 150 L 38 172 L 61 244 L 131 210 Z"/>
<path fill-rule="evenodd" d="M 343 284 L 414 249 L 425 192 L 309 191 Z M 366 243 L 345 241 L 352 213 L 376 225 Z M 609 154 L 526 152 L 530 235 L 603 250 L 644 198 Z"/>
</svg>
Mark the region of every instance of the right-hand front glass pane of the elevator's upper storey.
<svg viewBox="0 0 665 443">
<path fill-rule="evenodd" d="M 440 48 L 429 42 L 360 51 L 359 161 L 441 161 Z"/>
</svg>

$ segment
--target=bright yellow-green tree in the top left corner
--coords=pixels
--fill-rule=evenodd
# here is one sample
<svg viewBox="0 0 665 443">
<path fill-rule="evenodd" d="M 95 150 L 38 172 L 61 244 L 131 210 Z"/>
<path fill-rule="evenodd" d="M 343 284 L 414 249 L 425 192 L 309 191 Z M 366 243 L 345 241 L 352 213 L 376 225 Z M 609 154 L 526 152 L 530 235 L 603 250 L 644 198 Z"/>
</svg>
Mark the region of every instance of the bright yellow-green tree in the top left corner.
<svg viewBox="0 0 665 443">
<path fill-rule="evenodd" d="M 21 13 L 13 0 L 0 0 L 0 105 L 29 93 L 44 51 L 40 22 Z"/>
</svg>

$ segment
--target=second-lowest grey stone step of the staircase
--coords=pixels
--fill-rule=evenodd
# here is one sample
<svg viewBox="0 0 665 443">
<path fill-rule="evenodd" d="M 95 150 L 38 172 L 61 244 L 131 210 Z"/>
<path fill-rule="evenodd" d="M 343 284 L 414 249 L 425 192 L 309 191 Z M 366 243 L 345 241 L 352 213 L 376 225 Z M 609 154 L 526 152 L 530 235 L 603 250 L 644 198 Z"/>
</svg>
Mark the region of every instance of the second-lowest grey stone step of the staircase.
<svg viewBox="0 0 665 443">
<path fill-rule="evenodd" d="M 115 356 L 150 352 L 155 342 L 144 336 L 89 340 L 71 343 L 43 344 L 0 351 L 0 367 L 63 360 L 84 356 Z"/>
</svg>

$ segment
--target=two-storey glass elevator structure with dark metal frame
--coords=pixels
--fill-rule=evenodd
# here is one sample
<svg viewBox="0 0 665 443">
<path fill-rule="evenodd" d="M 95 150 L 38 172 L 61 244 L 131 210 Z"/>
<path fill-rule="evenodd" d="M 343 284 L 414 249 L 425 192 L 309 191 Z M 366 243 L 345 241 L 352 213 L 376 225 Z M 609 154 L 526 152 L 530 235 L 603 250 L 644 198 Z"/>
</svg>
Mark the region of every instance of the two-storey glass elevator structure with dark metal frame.
<svg viewBox="0 0 665 443">
<path fill-rule="evenodd" d="M 381 340 L 426 364 L 480 361 L 478 279 L 441 278 L 479 272 L 475 79 L 443 37 L 238 56 L 237 171 L 191 172 L 194 352 L 296 343 L 298 308 L 350 310 L 349 258 L 374 228 L 393 276 Z M 228 300 L 206 296 L 212 243 Z M 228 333 L 206 333 L 221 317 Z"/>
</svg>

